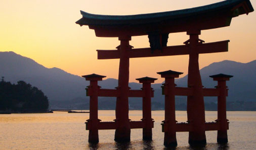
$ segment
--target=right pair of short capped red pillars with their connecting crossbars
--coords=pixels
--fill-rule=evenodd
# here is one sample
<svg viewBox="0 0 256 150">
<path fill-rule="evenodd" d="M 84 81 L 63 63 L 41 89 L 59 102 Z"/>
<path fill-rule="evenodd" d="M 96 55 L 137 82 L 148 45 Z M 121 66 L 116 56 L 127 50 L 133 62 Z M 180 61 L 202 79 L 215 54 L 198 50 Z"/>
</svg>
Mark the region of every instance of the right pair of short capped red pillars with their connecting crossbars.
<svg viewBox="0 0 256 150">
<path fill-rule="evenodd" d="M 187 123 L 177 123 L 175 116 L 175 96 L 193 96 L 195 91 L 192 87 L 176 87 L 174 79 L 183 74 L 176 71 L 158 72 L 162 78 L 165 78 L 165 83 L 162 86 L 162 94 L 165 95 L 164 101 L 164 121 L 162 132 L 164 132 L 164 145 L 177 145 L 176 132 L 193 132 L 198 127 L 204 127 L 204 131 L 218 130 L 217 141 L 228 142 L 227 130 L 229 122 L 226 114 L 226 96 L 228 89 L 226 81 L 233 77 L 231 75 L 217 74 L 209 76 L 218 81 L 216 88 L 203 88 L 203 96 L 218 96 L 218 119 L 216 122 L 203 122 L 201 125 L 196 125 L 198 120 L 188 120 Z M 191 104 L 190 104 L 191 105 Z M 194 106 L 194 108 L 197 108 Z M 195 112 L 195 111 L 194 111 Z M 197 119 L 194 117 L 193 119 Z M 189 139 L 190 140 L 190 139 Z M 190 141 L 189 141 L 190 142 Z M 191 142 L 190 142 L 191 143 Z"/>
</svg>

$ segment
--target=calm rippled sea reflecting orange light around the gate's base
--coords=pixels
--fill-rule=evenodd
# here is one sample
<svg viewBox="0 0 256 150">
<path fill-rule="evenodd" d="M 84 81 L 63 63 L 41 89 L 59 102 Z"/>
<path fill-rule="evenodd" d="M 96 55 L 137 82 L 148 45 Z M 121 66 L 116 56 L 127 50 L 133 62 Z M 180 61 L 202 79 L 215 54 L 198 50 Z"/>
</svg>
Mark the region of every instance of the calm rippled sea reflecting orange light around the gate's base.
<svg viewBox="0 0 256 150">
<path fill-rule="evenodd" d="M 88 143 L 84 122 L 89 114 L 11 114 L 0 115 L 0 149 L 168 149 L 163 146 L 163 111 L 153 111 L 153 141 L 142 140 L 142 129 L 132 129 L 130 143 L 114 142 L 114 130 L 100 130 L 99 144 Z M 130 111 L 130 119 L 140 120 L 142 111 Z M 177 111 L 176 120 L 186 122 L 186 112 Z M 217 131 L 207 131 L 207 144 L 191 147 L 188 133 L 177 133 L 178 146 L 170 149 L 256 149 L 256 112 L 227 112 L 230 121 L 227 144 L 217 143 Z M 99 119 L 115 119 L 114 111 L 99 111 Z M 206 112 L 206 121 L 217 112 Z"/>
</svg>

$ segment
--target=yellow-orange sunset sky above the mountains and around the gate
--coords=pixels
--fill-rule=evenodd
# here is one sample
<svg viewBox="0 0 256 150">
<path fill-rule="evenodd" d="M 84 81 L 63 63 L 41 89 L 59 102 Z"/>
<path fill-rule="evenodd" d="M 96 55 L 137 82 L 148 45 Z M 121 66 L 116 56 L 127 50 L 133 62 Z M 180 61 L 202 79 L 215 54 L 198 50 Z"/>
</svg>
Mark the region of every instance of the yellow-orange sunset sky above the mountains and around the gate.
<svg viewBox="0 0 256 150">
<path fill-rule="evenodd" d="M 254 9 L 256 1 L 250 0 Z M 0 0 L 0 51 L 13 51 L 47 67 L 60 68 L 78 76 L 87 74 L 118 77 L 119 60 L 97 60 L 96 49 L 115 49 L 118 38 L 96 37 L 88 26 L 75 24 L 80 10 L 102 15 L 133 15 L 172 11 L 208 5 L 213 0 Z M 231 60 L 247 63 L 256 59 L 256 13 L 241 15 L 230 27 L 203 30 L 200 39 L 214 42 L 229 39 L 229 52 L 201 54 L 199 68 Z M 185 32 L 169 34 L 167 45 L 180 45 L 189 38 Z M 135 48 L 149 47 L 147 36 L 132 37 Z M 156 72 L 188 72 L 188 56 L 130 59 L 130 82 L 140 77 L 163 79 Z M 216 72 L 218 74 L 220 72 Z"/>
</svg>

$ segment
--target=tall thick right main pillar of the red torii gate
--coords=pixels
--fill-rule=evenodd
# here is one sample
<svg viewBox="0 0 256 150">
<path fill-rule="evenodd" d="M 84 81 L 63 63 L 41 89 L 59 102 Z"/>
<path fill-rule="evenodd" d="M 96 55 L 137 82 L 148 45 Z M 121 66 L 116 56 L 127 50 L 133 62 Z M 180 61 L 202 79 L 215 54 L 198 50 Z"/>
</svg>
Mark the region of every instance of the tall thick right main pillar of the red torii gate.
<svg viewBox="0 0 256 150">
<path fill-rule="evenodd" d="M 204 144 L 206 143 L 205 113 L 197 52 L 200 30 L 191 30 L 187 34 L 190 36 L 187 44 L 189 46 L 188 87 L 193 89 L 193 95 L 187 98 L 188 122 L 192 125 L 192 131 L 189 131 L 189 143 Z"/>
</svg>

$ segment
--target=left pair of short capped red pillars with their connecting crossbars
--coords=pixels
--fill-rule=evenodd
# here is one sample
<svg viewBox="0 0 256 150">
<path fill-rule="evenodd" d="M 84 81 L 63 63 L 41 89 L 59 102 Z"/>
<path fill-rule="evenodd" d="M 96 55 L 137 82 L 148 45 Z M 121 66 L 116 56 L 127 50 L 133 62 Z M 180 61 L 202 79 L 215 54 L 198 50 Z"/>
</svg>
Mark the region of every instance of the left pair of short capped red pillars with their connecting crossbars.
<svg viewBox="0 0 256 150">
<path fill-rule="evenodd" d="M 151 140 L 152 139 L 152 128 L 154 126 L 154 121 L 151 118 L 151 97 L 154 96 L 154 91 L 151 88 L 151 83 L 154 83 L 156 78 L 150 77 L 143 77 L 138 78 L 140 83 L 142 83 L 141 90 L 131 90 L 128 91 L 128 97 L 143 97 L 142 102 L 142 111 L 143 111 L 143 118 L 142 121 L 131 121 L 129 118 L 124 118 L 121 116 L 123 112 L 119 110 L 116 114 L 120 115 L 120 118 L 114 120 L 114 122 L 102 122 L 98 118 L 98 96 L 105 96 L 105 97 L 120 97 L 121 91 L 119 88 L 116 89 L 102 89 L 98 86 L 98 81 L 101 81 L 102 78 L 106 76 L 101 76 L 97 74 L 90 74 L 82 76 L 86 78 L 86 80 L 90 81 L 90 85 L 87 90 L 87 96 L 90 96 L 90 118 L 86 122 L 86 129 L 89 130 L 89 142 L 99 142 L 99 134 L 98 130 L 107 130 L 107 129 L 118 129 L 123 122 L 128 120 L 127 123 L 129 129 L 136 129 L 136 128 L 143 128 L 143 139 Z M 121 108 L 121 106 L 119 106 Z M 129 109 L 129 108 L 125 108 Z M 122 110 L 122 111 L 129 111 L 129 110 Z M 124 112 L 125 113 L 125 112 Z M 128 117 L 128 116 L 127 116 Z M 126 125 L 126 124 L 125 124 Z M 127 141 L 129 137 L 123 137 L 125 141 Z M 122 139 L 124 141 L 124 139 Z M 117 140 L 117 139 L 115 139 Z M 119 140 L 120 141 L 120 140 Z"/>
</svg>

